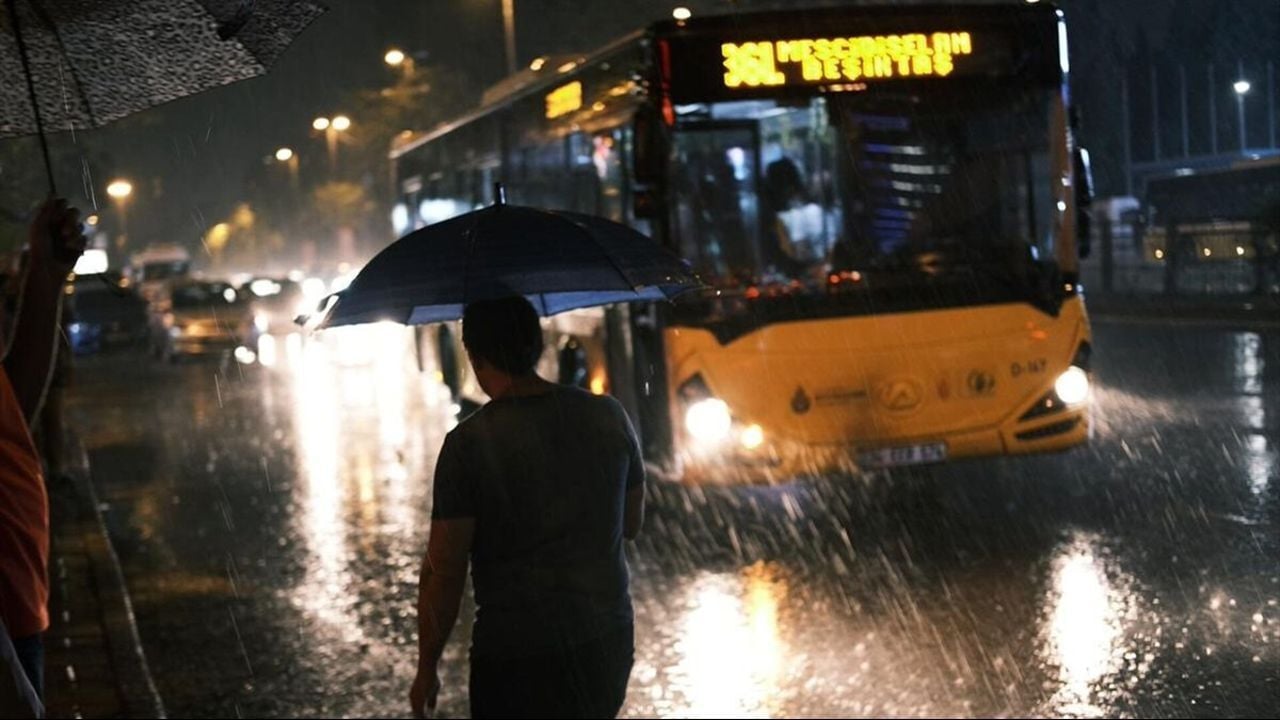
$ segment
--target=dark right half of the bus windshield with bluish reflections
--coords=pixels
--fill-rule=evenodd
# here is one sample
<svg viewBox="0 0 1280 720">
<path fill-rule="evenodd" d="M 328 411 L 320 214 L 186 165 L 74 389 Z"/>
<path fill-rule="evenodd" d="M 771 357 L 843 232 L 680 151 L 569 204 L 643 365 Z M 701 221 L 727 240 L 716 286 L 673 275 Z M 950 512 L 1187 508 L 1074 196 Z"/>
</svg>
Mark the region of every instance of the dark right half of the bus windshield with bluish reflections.
<svg viewBox="0 0 1280 720">
<path fill-rule="evenodd" d="M 840 100 L 845 190 L 856 199 L 846 261 L 1052 256 L 1043 99 L 991 94 L 972 106 L 941 94 L 881 92 Z"/>
</svg>

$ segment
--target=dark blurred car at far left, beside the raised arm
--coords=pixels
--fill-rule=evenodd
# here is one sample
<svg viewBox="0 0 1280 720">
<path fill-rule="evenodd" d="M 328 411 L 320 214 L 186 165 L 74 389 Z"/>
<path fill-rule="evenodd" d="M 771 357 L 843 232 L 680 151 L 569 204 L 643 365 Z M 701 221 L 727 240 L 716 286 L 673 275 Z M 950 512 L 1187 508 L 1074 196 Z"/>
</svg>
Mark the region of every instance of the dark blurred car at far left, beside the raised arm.
<svg viewBox="0 0 1280 720">
<path fill-rule="evenodd" d="M 72 352 L 140 346 L 147 340 L 147 301 L 119 273 L 76 275 L 65 313 Z"/>
</svg>

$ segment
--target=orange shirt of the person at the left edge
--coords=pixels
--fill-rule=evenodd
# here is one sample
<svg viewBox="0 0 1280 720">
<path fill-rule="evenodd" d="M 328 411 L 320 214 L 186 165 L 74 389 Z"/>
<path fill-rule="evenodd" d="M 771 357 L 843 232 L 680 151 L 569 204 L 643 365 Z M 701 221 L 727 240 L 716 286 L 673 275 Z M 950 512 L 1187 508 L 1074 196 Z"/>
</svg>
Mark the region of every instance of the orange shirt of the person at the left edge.
<svg viewBox="0 0 1280 720">
<path fill-rule="evenodd" d="M 24 638 L 49 626 L 49 496 L 36 443 L 0 365 L 0 620 Z"/>
</svg>

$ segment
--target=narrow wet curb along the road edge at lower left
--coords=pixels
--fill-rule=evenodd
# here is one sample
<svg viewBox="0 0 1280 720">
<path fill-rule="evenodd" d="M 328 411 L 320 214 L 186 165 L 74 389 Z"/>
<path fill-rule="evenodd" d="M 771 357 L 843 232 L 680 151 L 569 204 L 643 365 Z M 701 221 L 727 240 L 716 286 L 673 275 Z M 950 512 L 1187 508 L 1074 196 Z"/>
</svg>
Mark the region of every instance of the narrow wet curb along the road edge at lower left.
<svg viewBox="0 0 1280 720">
<path fill-rule="evenodd" d="M 68 433 L 67 466 L 76 483 L 76 496 L 82 518 L 88 519 L 91 529 L 84 532 L 84 548 L 90 556 L 90 566 L 101 611 L 102 633 L 109 648 L 111 667 L 119 685 L 120 698 L 127 717 L 166 717 L 164 702 L 156 689 L 142 638 L 138 634 L 137 619 L 133 615 L 133 601 L 124 583 L 124 570 L 120 559 L 111 544 L 106 530 L 101 505 L 88 465 L 88 452 L 79 437 Z"/>
</svg>

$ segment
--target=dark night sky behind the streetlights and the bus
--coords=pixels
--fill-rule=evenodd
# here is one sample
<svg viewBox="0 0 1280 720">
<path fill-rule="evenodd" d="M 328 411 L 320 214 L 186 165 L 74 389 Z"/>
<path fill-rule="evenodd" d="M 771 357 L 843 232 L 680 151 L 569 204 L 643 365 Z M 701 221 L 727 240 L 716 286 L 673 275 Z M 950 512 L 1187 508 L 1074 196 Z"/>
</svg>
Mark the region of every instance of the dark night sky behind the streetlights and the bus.
<svg viewBox="0 0 1280 720">
<path fill-rule="evenodd" d="M 86 183 L 78 182 L 84 164 L 77 156 L 87 159 L 97 173 L 133 178 L 137 195 L 131 224 L 136 217 L 134 234 L 150 234 L 137 240 L 192 242 L 204 227 L 244 199 L 246 177 L 275 147 L 292 146 L 303 158 L 323 154 L 321 141 L 310 129 L 314 117 L 346 111 L 358 124 L 358 108 L 337 104 L 358 87 L 392 82 L 390 70 L 381 61 L 389 46 L 429 53 L 428 64 L 461 73 L 477 88 L 503 74 L 499 0 L 328 0 L 328 4 L 330 12 L 303 33 L 268 76 L 142 113 L 106 129 L 77 135 L 74 151 L 64 155 L 58 170 L 60 184 L 73 188 L 68 195 L 81 204 L 91 202 L 78 197 Z M 792 5 L 750 0 L 686 4 L 695 13 Z M 1166 64 L 1194 61 L 1188 59 L 1204 53 L 1276 56 L 1280 3 L 1275 0 L 1066 0 L 1062 5 L 1071 23 L 1074 85 L 1085 114 L 1084 140 L 1103 155 L 1114 156 L 1120 147 L 1114 128 L 1117 56 L 1165 53 L 1166 59 L 1160 61 Z M 516 0 L 520 64 L 524 67 L 541 54 L 590 50 L 649 20 L 669 17 L 672 6 L 675 3 L 653 0 Z M 1188 28 L 1203 35 L 1201 47 L 1187 47 Z M 1206 47 L 1212 44 L 1219 47 Z M 1228 64 L 1234 67 L 1234 63 L 1224 67 Z M 1263 110 L 1263 102 L 1254 105 L 1256 113 Z M 1228 126 L 1234 119 L 1233 106 L 1222 108 L 1221 123 Z M 1149 105 L 1143 113 L 1151 117 Z M 1263 123 L 1256 127 L 1262 128 Z M 1220 132 L 1230 129 L 1222 127 Z M 65 147 L 70 140 L 64 135 L 56 142 Z M 1101 182 L 1107 190 L 1116 182 L 1115 172 L 1107 170 L 1106 160 L 1102 164 Z M 96 177 L 92 184 L 101 192 L 106 181 Z M 10 197 L 5 202 L 23 205 L 22 199 Z M 178 217 L 187 222 L 179 223 Z M 148 224 L 148 218 L 157 222 Z"/>
</svg>

